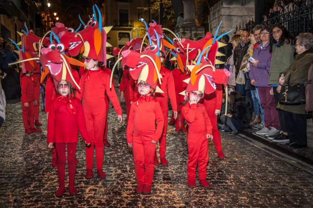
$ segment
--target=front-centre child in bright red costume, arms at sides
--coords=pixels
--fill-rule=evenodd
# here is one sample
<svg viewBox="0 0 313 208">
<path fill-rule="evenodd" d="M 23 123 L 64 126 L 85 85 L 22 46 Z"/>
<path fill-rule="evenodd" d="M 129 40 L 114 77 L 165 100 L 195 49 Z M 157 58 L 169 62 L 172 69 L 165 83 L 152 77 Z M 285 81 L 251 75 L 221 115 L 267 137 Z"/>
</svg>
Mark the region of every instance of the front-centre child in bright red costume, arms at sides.
<svg viewBox="0 0 313 208">
<path fill-rule="evenodd" d="M 159 101 L 152 97 L 155 89 L 143 81 L 137 86 L 141 96 L 131 104 L 126 137 L 134 153 L 136 193 L 150 194 L 156 143 L 162 135 L 164 117 Z"/>
</svg>

